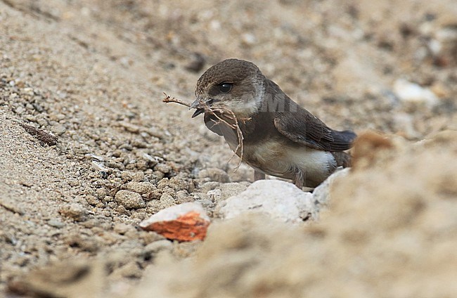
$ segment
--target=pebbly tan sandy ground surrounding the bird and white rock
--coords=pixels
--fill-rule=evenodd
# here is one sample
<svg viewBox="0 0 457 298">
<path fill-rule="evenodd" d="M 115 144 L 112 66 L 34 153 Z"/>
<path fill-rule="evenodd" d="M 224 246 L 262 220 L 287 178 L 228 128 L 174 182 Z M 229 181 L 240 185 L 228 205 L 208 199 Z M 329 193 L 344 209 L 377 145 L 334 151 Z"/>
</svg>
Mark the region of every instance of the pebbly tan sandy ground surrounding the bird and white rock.
<svg viewBox="0 0 457 298">
<path fill-rule="evenodd" d="M 0 292 L 457 292 L 456 1 L 2 0 L 0 32 Z M 193 101 L 200 74 L 231 57 L 330 127 L 392 146 L 361 148 L 318 223 L 239 219 L 203 243 L 139 231 L 160 209 L 252 178 L 202 119 L 161 102 Z M 404 82 L 420 95 L 401 96 Z M 144 205 L 120 205 L 122 189 Z"/>
</svg>

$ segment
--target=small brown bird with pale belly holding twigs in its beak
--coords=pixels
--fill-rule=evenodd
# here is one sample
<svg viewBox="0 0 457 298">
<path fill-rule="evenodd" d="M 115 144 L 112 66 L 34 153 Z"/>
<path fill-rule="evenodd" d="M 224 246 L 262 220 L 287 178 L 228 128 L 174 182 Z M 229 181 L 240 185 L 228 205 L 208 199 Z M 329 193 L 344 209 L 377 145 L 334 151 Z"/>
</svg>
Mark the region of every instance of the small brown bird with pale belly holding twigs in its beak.
<svg viewBox="0 0 457 298">
<path fill-rule="evenodd" d="M 350 166 L 345 150 L 356 134 L 330 129 L 249 61 L 231 58 L 208 68 L 190 109 L 192 117 L 204 114 L 206 127 L 255 170 L 255 181 L 270 175 L 315 188 Z"/>
</svg>

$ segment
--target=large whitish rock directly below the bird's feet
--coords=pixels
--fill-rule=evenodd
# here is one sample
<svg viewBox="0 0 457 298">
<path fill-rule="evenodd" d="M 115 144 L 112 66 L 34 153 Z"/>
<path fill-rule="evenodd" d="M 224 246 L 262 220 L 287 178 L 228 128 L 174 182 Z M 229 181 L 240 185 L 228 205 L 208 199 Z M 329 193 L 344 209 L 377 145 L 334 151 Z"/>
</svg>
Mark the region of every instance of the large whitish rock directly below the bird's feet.
<svg viewBox="0 0 457 298">
<path fill-rule="evenodd" d="M 317 216 L 311 193 L 279 180 L 256 181 L 243 193 L 229 197 L 217 206 L 217 214 L 224 219 L 249 213 L 268 214 L 293 223 Z"/>
</svg>

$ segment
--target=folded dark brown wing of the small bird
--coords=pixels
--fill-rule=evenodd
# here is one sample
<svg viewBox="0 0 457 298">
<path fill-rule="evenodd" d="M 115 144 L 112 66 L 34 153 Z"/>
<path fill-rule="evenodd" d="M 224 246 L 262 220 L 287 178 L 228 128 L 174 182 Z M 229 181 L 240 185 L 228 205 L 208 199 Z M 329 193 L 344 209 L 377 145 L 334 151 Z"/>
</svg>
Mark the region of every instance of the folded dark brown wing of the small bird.
<svg viewBox="0 0 457 298">
<path fill-rule="evenodd" d="M 318 117 L 288 99 L 284 111 L 274 115 L 274 125 L 281 134 L 295 143 L 318 150 L 343 151 L 352 147 L 356 138 L 354 132 L 330 129 Z"/>
</svg>

